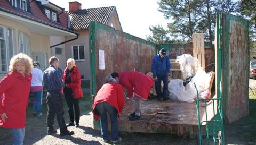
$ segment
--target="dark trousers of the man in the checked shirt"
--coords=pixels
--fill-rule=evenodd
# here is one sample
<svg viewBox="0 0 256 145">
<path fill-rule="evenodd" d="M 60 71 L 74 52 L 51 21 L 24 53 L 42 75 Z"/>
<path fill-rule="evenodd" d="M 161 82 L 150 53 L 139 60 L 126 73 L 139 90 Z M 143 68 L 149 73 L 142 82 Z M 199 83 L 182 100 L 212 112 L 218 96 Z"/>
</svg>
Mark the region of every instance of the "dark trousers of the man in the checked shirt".
<svg viewBox="0 0 256 145">
<path fill-rule="evenodd" d="M 47 92 L 47 127 L 49 130 L 53 129 L 54 117 L 57 116 L 57 121 L 60 127 L 60 131 L 67 130 L 64 119 L 64 110 L 63 110 L 63 99 L 60 92 Z"/>
</svg>

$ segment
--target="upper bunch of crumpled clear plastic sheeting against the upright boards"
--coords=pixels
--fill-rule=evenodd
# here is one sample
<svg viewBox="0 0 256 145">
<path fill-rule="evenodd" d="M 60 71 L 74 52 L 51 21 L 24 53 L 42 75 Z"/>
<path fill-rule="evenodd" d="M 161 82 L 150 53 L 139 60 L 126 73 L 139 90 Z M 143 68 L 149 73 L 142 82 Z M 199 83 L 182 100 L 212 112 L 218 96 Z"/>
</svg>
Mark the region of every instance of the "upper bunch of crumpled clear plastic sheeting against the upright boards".
<svg viewBox="0 0 256 145">
<path fill-rule="evenodd" d="M 180 70 L 183 75 L 183 80 L 190 76 L 194 76 L 199 67 L 197 58 L 192 57 L 190 54 L 183 54 L 176 57 L 176 62 L 180 63 Z"/>
</svg>

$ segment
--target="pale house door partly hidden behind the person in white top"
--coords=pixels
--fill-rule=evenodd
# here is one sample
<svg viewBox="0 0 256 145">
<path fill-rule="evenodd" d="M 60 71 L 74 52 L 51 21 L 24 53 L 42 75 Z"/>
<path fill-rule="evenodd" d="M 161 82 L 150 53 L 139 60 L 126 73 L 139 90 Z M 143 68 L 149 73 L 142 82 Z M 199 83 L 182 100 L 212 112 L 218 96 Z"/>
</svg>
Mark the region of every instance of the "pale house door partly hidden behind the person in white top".
<svg viewBox="0 0 256 145">
<path fill-rule="evenodd" d="M 43 72 L 47 69 L 47 63 L 46 63 L 46 53 L 43 52 L 32 52 L 33 61 L 38 61 L 40 64 L 39 69 L 41 69 Z"/>
</svg>

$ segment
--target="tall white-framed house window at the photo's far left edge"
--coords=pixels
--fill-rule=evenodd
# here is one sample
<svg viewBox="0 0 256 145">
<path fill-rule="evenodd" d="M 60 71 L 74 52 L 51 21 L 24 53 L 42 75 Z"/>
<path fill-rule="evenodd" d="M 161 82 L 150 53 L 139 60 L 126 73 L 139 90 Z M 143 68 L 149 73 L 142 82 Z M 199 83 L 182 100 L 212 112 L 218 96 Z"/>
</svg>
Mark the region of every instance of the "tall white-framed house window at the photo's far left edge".
<svg viewBox="0 0 256 145">
<path fill-rule="evenodd" d="M 0 73 L 7 73 L 10 58 L 13 56 L 12 29 L 0 25 Z"/>
</svg>

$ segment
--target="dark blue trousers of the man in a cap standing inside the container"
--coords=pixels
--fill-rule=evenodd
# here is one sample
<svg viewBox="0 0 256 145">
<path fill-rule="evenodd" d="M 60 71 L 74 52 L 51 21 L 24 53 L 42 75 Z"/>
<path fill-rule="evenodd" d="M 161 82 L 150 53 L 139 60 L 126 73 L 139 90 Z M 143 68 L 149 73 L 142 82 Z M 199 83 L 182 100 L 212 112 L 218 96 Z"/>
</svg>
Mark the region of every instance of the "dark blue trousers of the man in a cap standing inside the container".
<svg viewBox="0 0 256 145">
<path fill-rule="evenodd" d="M 161 92 L 161 82 L 163 80 L 164 83 L 164 88 L 163 88 L 163 93 Z M 157 81 L 155 83 L 155 88 L 156 88 L 156 94 L 157 98 L 167 98 L 168 97 L 168 77 L 167 74 L 164 75 L 158 75 L 157 74 Z"/>
</svg>

